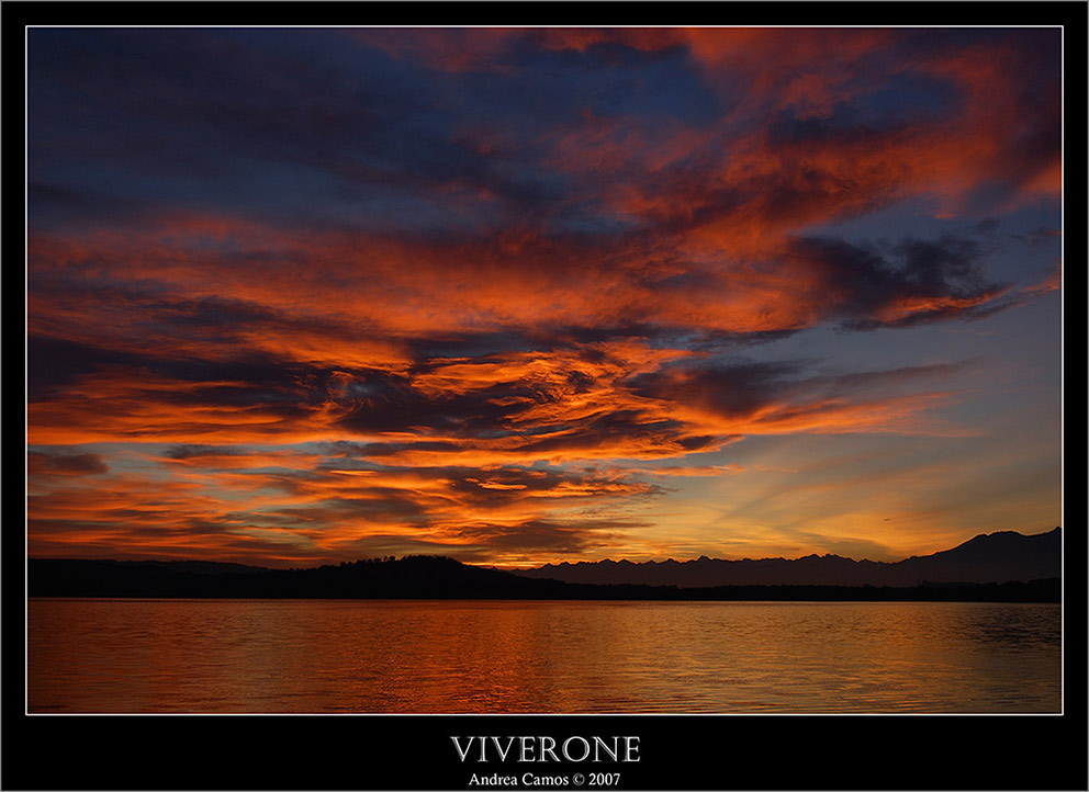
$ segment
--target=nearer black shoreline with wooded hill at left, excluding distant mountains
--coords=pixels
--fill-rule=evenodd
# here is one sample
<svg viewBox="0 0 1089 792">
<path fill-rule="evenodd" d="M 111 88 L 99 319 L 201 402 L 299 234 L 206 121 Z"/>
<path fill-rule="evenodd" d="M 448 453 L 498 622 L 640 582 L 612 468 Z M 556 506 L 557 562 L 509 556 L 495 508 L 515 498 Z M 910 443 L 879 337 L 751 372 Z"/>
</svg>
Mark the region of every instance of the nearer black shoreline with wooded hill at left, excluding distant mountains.
<svg viewBox="0 0 1089 792">
<path fill-rule="evenodd" d="M 212 599 L 772 600 L 1058 602 L 1058 578 L 1004 584 L 677 586 L 569 584 L 442 556 L 371 558 L 304 569 L 214 562 L 30 558 L 31 597 Z"/>
</svg>

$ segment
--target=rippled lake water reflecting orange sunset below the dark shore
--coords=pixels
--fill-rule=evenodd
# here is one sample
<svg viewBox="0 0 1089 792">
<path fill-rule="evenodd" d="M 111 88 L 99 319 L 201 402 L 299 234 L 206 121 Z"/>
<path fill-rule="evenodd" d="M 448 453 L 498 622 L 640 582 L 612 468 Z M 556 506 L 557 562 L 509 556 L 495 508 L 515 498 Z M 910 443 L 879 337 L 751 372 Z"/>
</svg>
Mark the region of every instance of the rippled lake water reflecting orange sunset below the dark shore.
<svg viewBox="0 0 1089 792">
<path fill-rule="evenodd" d="M 1056 604 L 27 602 L 27 711 L 1039 713 Z"/>
</svg>

